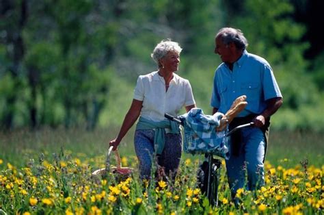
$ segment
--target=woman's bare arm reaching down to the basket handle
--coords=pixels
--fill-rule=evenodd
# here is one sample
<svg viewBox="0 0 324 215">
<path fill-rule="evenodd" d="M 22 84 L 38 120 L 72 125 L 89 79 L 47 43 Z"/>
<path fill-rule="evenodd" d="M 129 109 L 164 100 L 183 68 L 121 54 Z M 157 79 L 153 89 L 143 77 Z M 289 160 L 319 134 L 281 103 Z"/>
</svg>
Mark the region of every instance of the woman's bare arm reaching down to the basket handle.
<svg viewBox="0 0 324 215">
<path fill-rule="evenodd" d="M 120 131 L 118 133 L 117 138 L 115 138 L 109 142 L 109 145 L 113 146 L 113 150 L 117 149 L 118 145 L 120 144 L 120 141 L 122 141 L 122 138 L 124 138 L 124 136 L 127 134 L 129 129 L 137 121 L 137 118 L 139 117 L 139 114 L 141 113 L 142 105 L 143 105 L 143 101 L 133 99 L 131 108 L 129 108 L 129 111 L 127 112 L 127 114 L 124 118 L 122 127 L 120 127 Z"/>
</svg>

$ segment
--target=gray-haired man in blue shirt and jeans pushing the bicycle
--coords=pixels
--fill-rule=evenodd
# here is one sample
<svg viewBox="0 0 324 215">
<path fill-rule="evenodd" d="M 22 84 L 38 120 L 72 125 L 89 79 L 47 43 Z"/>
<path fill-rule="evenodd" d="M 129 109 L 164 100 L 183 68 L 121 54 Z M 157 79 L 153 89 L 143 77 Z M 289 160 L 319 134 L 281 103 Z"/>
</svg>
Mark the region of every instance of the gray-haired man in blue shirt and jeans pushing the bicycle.
<svg viewBox="0 0 324 215">
<path fill-rule="evenodd" d="M 248 53 L 246 48 L 247 39 L 239 29 L 225 27 L 215 37 L 215 53 L 223 63 L 215 71 L 213 114 L 226 113 L 237 97 L 245 95 L 247 105 L 232 120 L 230 129 L 254 123 L 253 127 L 241 129 L 231 137 L 226 169 L 233 198 L 239 188 L 255 190 L 265 184 L 264 159 L 270 116 L 282 105 L 282 94 L 271 66 L 258 55 Z"/>
</svg>

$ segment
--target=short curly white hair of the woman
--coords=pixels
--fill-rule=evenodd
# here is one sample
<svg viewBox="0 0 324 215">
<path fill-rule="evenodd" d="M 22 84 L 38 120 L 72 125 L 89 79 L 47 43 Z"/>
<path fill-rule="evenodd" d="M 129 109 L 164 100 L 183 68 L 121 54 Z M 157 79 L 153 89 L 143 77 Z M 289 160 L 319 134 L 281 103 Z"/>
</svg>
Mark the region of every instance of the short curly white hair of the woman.
<svg viewBox="0 0 324 215">
<path fill-rule="evenodd" d="M 183 49 L 181 49 L 178 42 L 173 42 L 170 39 L 162 40 L 154 48 L 153 53 L 151 53 L 151 57 L 155 62 L 157 62 L 157 64 L 159 64 L 159 60 L 163 58 L 170 51 L 180 54 L 182 50 Z"/>
</svg>

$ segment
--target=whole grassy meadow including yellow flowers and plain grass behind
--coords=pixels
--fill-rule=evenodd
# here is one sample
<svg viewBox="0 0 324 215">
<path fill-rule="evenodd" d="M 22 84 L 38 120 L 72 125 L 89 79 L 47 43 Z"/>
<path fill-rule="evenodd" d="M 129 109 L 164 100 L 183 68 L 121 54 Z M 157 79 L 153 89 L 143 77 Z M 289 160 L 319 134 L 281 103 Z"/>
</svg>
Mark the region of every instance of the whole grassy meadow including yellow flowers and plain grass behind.
<svg viewBox="0 0 324 215">
<path fill-rule="evenodd" d="M 272 131 L 265 186 L 253 192 L 239 189 L 235 207 L 223 166 L 219 207 L 212 208 L 197 186 L 198 155 L 183 154 L 174 185 L 141 183 L 136 170 L 126 181 L 112 173 L 94 181 L 91 173 L 104 166 L 116 132 L 0 133 L 0 214 L 321 214 L 324 208 L 323 134 Z M 136 168 L 132 142 L 133 130 L 121 143 L 120 154 L 127 158 L 124 166 Z M 309 168 L 301 168 L 306 159 Z"/>
</svg>

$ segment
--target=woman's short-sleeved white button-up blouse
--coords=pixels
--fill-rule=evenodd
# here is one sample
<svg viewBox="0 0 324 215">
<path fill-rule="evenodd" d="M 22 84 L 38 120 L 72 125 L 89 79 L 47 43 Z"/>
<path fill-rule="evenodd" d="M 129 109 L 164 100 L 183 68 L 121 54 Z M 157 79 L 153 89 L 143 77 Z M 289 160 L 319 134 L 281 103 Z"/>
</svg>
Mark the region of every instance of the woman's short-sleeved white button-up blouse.
<svg viewBox="0 0 324 215">
<path fill-rule="evenodd" d="M 187 79 L 174 73 L 165 92 L 165 81 L 157 71 L 139 75 L 134 99 L 143 101 L 141 116 L 152 121 L 165 120 L 165 113 L 178 116 L 181 108 L 195 104 L 191 85 Z"/>
</svg>

